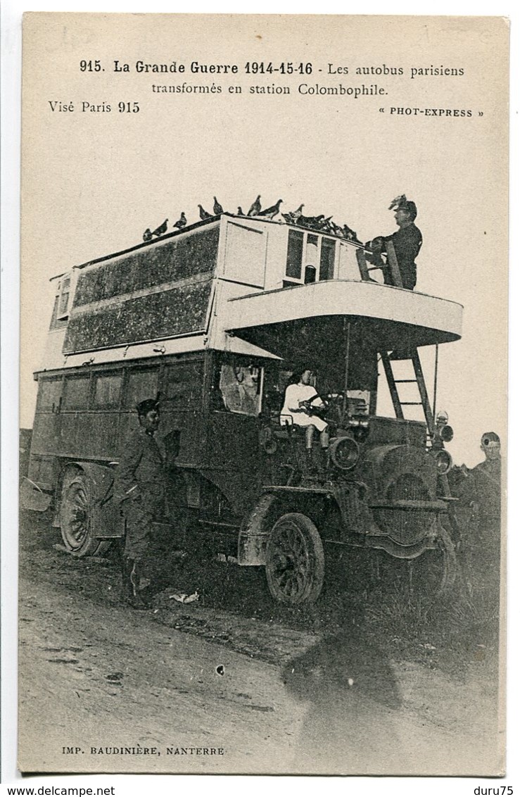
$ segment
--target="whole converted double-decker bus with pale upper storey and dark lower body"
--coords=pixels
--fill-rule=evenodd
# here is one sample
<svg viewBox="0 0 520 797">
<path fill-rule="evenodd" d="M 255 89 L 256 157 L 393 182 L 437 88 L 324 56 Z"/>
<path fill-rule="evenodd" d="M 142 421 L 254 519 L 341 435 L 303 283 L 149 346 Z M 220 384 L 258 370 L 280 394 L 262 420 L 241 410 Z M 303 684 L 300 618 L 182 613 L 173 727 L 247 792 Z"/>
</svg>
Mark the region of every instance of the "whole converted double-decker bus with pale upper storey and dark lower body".
<svg viewBox="0 0 520 797">
<path fill-rule="evenodd" d="M 119 448 L 136 404 L 159 395 L 175 477 L 158 522 L 172 545 L 204 540 L 265 567 L 283 603 L 318 598 L 326 548 L 409 561 L 437 551 L 450 583 L 449 427 L 436 427 L 420 350 L 459 339 L 459 304 L 378 281 L 357 241 L 227 213 L 54 282 L 26 489 L 68 552 L 123 536 Z M 330 429 L 310 457 L 302 427 L 280 417 L 302 363 Z M 412 406 L 420 417 L 406 417 Z"/>
</svg>

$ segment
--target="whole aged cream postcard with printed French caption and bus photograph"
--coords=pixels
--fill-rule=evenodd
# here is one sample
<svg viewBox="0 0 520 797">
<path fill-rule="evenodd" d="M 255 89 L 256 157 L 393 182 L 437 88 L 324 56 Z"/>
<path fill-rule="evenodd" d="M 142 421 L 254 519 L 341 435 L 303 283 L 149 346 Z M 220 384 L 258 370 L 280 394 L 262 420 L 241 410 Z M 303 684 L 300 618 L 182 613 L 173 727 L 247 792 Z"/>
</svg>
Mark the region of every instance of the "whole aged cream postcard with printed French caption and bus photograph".
<svg viewBox="0 0 520 797">
<path fill-rule="evenodd" d="M 22 772 L 503 775 L 508 47 L 25 14 Z"/>
</svg>

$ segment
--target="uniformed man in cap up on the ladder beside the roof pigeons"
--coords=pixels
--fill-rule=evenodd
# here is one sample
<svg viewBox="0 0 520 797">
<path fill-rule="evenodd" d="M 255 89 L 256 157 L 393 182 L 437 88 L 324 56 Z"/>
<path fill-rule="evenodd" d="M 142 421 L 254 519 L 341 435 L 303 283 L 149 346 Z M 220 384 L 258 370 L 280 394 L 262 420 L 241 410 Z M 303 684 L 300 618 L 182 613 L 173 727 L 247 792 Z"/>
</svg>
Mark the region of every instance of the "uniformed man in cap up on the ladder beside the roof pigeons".
<svg viewBox="0 0 520 797">
<path fill-rule="evenodd" d="M 407 200 L 405 194 L 402 194 L 393 200 L 389 210 L 395 211 L 394 218 L 399 230 L 393 235 L 380 235 L 374 238 L 373 241 L 368 241 L 366 248 L 373 252 L 374 265 L 381 265 L 381 253 L 386 253 L 387 241 L 392 241 L 401 272 L 403 288 L 413 290 L 417 281 L 415 260 L 423 243 L 422 234 L 415 224 L 417 215 L 416 203 Z M 385 285 L 393 285 L 389 269 L 384 268 L 383 274 Z"/>
</svg>

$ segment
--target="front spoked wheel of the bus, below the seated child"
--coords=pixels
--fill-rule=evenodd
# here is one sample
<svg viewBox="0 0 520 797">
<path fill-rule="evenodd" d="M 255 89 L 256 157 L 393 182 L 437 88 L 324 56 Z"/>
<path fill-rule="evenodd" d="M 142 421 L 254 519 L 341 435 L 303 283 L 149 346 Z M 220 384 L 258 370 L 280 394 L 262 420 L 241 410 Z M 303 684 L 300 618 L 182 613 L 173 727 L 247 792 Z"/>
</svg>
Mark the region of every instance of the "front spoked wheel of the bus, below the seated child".
<svg viewBox="0 0 520 797">
<path fill-rule="evenodd" d="M 268 540 L 265 575 L 280 603 L 312 603 L 323 587 L 325 558 L 315 524 L 299 512 L 280 517 Z"/>
</svg>

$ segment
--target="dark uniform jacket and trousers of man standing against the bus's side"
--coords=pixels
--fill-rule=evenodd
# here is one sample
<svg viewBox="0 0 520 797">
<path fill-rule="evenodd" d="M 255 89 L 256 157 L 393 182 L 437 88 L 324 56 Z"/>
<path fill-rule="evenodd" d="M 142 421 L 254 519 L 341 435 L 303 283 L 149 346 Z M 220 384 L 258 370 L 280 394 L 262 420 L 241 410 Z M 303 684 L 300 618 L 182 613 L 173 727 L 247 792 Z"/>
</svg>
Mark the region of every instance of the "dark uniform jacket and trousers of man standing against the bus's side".
<svg viewBox="0 0 520 797">
<path fill-rule="evenodd" d="M 165 497 L 164 457 L 143 426 L 123 446 L 114 494 L 127 521 L 124 556 L 139 562 L 147 555 L 152 522 L 162 516 Z"/>
</svg>

